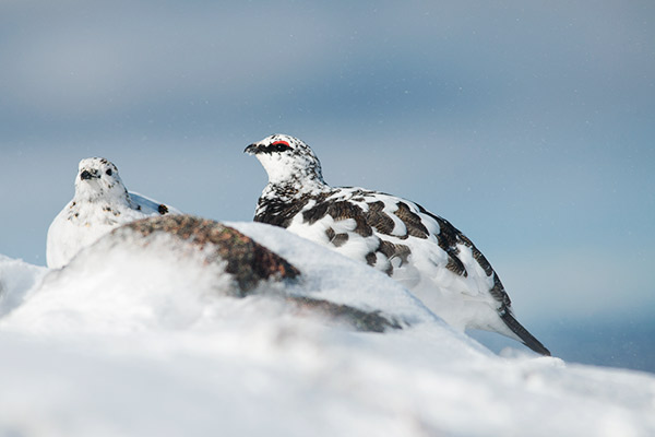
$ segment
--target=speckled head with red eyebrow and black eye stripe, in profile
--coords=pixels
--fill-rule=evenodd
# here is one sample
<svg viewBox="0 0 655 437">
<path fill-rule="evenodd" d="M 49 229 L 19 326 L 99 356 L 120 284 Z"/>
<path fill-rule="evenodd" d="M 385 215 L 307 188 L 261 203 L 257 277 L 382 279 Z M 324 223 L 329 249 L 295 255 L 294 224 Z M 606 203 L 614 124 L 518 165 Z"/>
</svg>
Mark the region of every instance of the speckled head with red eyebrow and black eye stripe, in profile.
<svg viewBox="0 0 655 437">
<path fill-rule="evenodd" d="M 255 155 L 273 185 L 323 185 L 321 163 L 301 140 L 276 133 L 250 144 L 243 151 Z"/>
</svg>

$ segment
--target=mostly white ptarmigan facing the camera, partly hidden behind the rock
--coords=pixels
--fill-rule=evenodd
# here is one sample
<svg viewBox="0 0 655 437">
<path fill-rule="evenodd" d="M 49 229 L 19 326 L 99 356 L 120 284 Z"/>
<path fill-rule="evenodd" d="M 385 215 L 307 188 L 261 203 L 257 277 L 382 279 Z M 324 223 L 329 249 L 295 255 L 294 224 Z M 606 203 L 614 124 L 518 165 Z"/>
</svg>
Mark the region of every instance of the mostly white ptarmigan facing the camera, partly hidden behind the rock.
<svg viewBox="0 0 655 437">
<path fill-rule="evenodd" d="M 180 214 L 180 211 L 129 192 L 116 165 L 106 158 L 82 160 L 75 177 L 75 196 L 55 217 L 48 229 L 48 267 L 59 269 L 66 265 L 80 249 L 115 227 L 164 214 Z"/>
</svg>

